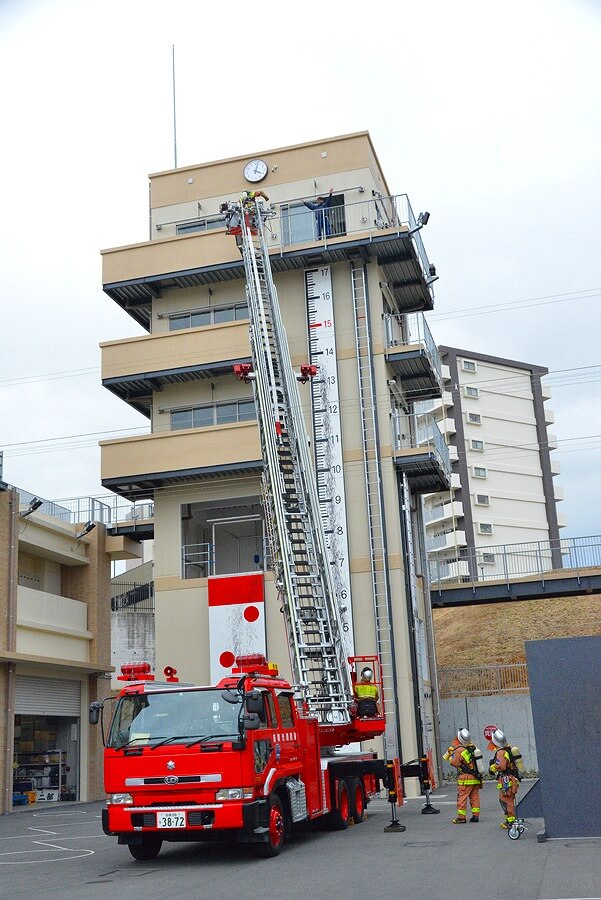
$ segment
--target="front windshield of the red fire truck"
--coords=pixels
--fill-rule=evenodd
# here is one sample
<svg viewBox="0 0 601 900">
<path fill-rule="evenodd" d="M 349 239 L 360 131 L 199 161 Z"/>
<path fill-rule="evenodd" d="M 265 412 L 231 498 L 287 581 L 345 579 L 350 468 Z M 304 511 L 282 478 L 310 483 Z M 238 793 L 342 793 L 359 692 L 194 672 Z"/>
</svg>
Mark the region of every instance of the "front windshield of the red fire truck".
<svg viewBox="0 0 601 900">
<path fill-rule="evenodd" d="M 239 712 L 220 690 L 132 694 L 117 703 L 107 746 L 174 744 L 178 738 L 185 744 L 205 736 L 236 740 Z"/>
</svg>

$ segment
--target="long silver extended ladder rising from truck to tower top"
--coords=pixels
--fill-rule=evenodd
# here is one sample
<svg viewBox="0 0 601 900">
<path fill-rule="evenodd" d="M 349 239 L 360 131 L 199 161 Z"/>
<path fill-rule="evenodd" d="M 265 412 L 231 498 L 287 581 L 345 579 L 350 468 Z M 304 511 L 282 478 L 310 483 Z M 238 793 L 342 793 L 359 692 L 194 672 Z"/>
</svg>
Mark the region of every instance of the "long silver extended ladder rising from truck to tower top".
<svg viewBox="0 0 601 900">
<path fill-rule="evenodd" d="M 344 654 L 340 609 L 328 559 L 298 381 L 282 324 L 264 219 L 240 209 L 241 243 L 250 314 L 252 367 L 235 374 L 252 382 L 264 459 L 263 495 L 276 587 L 286 623 L 293 677 L 305 687 L 322 740 L 347 743 L 379 734 L 384 720 L 353 719 L 353 685 Z"/>
</svg>

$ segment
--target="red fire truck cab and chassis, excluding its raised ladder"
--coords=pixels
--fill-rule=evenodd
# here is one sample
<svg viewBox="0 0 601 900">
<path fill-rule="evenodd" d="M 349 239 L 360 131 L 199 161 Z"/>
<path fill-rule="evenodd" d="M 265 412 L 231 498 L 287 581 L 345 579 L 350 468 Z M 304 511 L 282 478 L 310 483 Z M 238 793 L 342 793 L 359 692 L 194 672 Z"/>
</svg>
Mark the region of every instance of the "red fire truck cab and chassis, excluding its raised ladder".
<svg viewBox="0 0 601 900">
<path fill-rule="evenodd" d="M 335 730 L 321 729 L 274 664 L 260 655 L 236 663 L 214 687 L 145 671 L 122 688 L 106 737 L 102 823 L 135 859 L 155 858 L 164 841 L 205 840 L 276 856 L 295 825 L 361 822 L 379 791 L 375 753 L 324 746 Z M 122 677 L 139 676 L 132 666 Z M 383 725 L 359 727 L 365 736 Z"/>
</svg>

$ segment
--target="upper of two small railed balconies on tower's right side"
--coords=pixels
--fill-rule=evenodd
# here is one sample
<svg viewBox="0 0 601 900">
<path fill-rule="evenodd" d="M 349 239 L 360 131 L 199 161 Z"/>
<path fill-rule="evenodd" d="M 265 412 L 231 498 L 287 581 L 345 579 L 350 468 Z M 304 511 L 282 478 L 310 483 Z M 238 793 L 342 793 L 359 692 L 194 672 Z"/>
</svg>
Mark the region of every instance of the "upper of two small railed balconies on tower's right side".
<svg viewBox="0 0 601 900">
<path fill-rule="evenodd" d="M 423 313 L 386 315 L 383 326 L 386 360 L 400 377 L 408 399 L 440 397 L 442 363 Z"/>
</svg>

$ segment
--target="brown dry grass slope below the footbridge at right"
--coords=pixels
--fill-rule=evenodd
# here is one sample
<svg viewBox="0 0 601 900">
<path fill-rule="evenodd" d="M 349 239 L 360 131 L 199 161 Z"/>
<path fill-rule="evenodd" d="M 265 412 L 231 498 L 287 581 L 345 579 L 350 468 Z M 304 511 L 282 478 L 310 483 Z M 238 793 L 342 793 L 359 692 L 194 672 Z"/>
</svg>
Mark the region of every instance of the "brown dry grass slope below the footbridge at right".
<svg viewBox="0 0 601 900">
<path fill-rule="evenodd" d="M 526 662 L 524 641 L 601 635 L 601 595 L 435 609 L 439 667 Z"/>
</svg>

